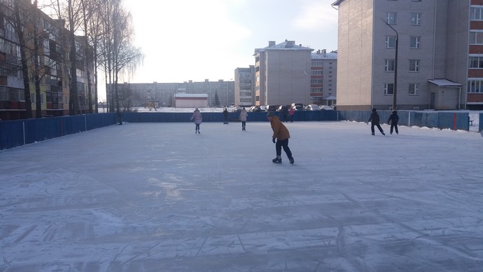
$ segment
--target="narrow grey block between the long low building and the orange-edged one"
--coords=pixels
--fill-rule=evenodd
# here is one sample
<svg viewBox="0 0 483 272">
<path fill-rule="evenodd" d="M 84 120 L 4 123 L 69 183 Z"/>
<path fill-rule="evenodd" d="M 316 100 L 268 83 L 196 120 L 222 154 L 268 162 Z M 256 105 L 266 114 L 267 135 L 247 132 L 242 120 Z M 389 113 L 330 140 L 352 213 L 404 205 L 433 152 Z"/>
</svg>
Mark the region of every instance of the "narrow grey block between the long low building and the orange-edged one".
<svg viewBox="0 0 483 272">
<path fill-rule="evenodd" d="M 235 69 L 235 106 L 255 105 L 255 66 Z"/>
</svg>

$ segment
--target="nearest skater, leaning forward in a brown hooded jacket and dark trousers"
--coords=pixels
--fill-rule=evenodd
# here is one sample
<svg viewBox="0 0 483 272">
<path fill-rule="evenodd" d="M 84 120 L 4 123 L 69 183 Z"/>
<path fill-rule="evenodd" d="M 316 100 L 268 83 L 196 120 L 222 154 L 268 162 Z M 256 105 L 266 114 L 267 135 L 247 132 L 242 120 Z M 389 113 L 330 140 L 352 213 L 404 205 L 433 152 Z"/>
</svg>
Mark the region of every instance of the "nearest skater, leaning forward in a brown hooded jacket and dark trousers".
<svg viewBox="0 0 483 272">
<path fill-rule="evenodd" d="M 288 133 L 288 129 L 286 126 L 280 122 L 279 118 L 273 114 L 272 111 L 268 112 L 266 115 L 268 121 L 270 121 L 270 126 L 272 126 L 273 135 L 272 135 L 272 142 L 275 144 L 275 153 L 277 157 L 272 159 L 272 162 L 276 164 L 282 163 L 282 147 L 288 157 L 288 161 L 290 164 L 293 164 L 294 160 L 292 157 L 292 152 L 290 148 L 288 148 L 288 138 L 290 138 L 290 133 Z M 275 139 L 277 141 L 275 142 Z"/>
</svg>

